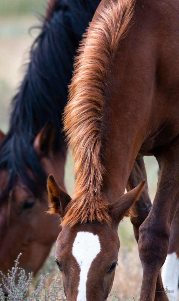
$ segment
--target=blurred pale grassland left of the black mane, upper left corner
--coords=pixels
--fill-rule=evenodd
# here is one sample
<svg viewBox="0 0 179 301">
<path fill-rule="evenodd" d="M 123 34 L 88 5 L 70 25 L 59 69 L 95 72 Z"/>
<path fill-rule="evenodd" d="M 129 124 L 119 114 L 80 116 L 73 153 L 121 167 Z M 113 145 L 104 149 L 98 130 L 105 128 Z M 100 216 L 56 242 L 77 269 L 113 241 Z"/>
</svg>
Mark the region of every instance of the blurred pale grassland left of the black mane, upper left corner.
<svg viewBox="0 0 179 301">
<path fill-rule="evenodd" d="M 37 29 L 28 30 L 40 25 L 36 15 L 44 14 L 45 8 L 44 0 L 0 1 L 0 128 L 5 132 L 9 103 L 23 76 L 22 64 L 38 34 Z"/>
</svg>

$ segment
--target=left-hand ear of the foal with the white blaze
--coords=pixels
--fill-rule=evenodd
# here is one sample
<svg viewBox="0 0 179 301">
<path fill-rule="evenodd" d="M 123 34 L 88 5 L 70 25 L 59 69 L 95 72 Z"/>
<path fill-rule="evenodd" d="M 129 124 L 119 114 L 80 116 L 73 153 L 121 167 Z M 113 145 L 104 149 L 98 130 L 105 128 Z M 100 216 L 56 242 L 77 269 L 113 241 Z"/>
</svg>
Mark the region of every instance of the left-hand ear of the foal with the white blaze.
<svg viewBox="0 0 179 301">
<path fill-rule="evenodd" d="M 71 197 L 58 186 L 53 175 L 49 175 L 48 177 L 47 189 L 50 207 L 48 213 L 58 213 L 63 218 L 65 208 L 70 202 Z"/>
</svg>

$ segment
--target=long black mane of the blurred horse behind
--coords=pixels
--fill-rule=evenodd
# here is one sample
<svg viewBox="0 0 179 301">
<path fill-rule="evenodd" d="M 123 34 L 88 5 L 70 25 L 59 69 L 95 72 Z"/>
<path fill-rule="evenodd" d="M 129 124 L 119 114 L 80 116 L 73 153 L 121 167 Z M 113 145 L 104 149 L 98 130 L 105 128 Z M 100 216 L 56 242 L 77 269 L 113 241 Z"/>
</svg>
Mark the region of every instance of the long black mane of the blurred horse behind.
<svg viewBox="0 0 179 301">
<path fill-rule="evenodd" d="M 38 196 L 46 185 L 46 174 L 33 149 L 33 141 L 50 121 L 55 127 L 54 152 L 61 151 L 61 114 L 67 101 L 73 57 L 82 33 L 99 0 L 60 0 L 49 21 L 43 24 L 30 51 L 30 63 L 12 100 L 9 130 L 0 144 L 0 170 L 8 172 L 8 182 L 0 200 L 12 189 L 16 176 Z M 36 181 L 27 175 L 27 167 Z"/>
</svg>

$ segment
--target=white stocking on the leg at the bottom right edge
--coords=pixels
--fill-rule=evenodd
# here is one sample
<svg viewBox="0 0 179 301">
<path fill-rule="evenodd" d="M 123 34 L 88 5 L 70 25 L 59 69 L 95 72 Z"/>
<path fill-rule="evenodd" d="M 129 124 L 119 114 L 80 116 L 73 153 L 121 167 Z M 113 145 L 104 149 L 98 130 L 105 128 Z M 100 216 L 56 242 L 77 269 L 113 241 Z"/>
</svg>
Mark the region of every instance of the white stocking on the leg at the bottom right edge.
<svg viewBox="0 0 179 301">
<path fill-rule="evenodd" d="M 178 300 L 178 277 L 179 259 L 177 258 L 176 253 L 168 254 L 162 267 L 162 281 L 164 288 L 167 286 L 169 301 Z"/>
</svg>

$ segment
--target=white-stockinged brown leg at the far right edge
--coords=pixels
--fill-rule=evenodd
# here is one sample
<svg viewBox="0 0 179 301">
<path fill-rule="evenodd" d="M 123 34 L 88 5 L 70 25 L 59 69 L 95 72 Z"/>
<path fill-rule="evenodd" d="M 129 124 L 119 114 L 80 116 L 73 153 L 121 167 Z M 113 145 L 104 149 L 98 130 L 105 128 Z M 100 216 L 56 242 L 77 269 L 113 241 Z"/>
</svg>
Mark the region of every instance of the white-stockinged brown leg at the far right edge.
<svg viewBox="0 0 179 301">
<path fill-rule="evenodd" d="M 162 267 L 162 281 L 168 287 L 169 301 L 178 300 L 179 278 L 179 207 L 171 224 L 168 254 Z"/>
</svg>

